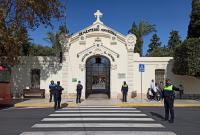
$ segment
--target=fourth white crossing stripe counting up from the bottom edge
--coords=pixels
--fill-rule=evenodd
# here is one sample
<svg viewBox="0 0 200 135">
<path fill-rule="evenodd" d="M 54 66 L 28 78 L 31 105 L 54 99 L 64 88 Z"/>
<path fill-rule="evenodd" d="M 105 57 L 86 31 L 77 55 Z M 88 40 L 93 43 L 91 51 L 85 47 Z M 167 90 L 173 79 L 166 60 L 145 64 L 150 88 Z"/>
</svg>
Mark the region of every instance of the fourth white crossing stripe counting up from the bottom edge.
<svg viewBox="0 0 200 135">
<path fill-rule="evenodd" d="M 49 116 L 118 116 L 118 117 L 122 117 L 122 116 L 147 116 L 146 114 L 140 114 L 140 113 L 121 113 L 121 114 L 117 114 L 117 113 L 82 113 L 82 114 L 50 114 Z"/>
</svg>

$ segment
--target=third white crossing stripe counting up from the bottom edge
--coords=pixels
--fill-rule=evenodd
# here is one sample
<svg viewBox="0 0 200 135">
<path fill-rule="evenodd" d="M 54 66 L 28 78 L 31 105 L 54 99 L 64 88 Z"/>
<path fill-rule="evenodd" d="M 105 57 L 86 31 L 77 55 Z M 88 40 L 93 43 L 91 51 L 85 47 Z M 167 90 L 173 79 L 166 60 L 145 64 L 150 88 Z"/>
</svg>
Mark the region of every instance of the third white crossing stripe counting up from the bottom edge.
<svg viewBox="0 0 200 135">
<path fill-rule="evenodd" d="M 152 118 L 44 118 L 42 121 L 154 121 Z"/>
</svg>

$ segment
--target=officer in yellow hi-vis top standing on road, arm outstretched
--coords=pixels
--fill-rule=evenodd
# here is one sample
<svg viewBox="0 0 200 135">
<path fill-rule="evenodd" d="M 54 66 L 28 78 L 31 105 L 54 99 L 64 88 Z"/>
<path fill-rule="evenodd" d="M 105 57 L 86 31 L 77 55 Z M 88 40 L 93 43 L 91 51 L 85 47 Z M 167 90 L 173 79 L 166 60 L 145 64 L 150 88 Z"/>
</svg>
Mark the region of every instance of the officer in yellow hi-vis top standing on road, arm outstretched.
<svg viewBox="0 0 200 135">
<path fill-rule="evenodd" d="M 178 91 L 178 88 L 172 85 L 169 79 L 166 79 L 166 84 L 163 88 L 163 96 L 164 96 L 164 107 L 165 107 L 165 121 L 169 120 L 169 123 L 174 122 L 174 98 L 175 98 L 174 91 Z M 169 119 L 169 114 L 170 114 L 170 119 Z"/>
</svg>

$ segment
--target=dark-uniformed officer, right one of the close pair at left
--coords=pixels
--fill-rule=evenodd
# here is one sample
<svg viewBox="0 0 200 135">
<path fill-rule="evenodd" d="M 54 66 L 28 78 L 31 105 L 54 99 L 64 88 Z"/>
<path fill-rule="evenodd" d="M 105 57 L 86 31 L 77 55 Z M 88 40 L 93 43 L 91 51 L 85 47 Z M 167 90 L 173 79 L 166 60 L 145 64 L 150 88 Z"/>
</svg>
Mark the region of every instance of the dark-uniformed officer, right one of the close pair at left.
<svg viewBox="0 0 200 135">
<path fill-rule="evenodd" d="M 56 89 L 54 90 L 54 109 L 60 109 L 61 95 L 63 87 L 60 86 L 60 81 L 57 81 Z"/>
</svg>

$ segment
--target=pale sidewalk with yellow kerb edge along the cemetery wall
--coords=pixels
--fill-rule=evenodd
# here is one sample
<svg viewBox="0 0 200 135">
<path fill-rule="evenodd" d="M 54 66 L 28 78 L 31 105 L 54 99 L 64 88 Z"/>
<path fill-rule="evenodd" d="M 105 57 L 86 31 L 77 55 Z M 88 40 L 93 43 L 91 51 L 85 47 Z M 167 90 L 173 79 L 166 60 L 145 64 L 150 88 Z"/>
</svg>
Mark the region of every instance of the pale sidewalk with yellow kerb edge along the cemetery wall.
<svg viewBox="0 0 200 135">
<path fill-rule="evenodd" d="M 53 107 L 54 102 L 49 102 L 48 99 L 30 99 L 15 104 L 15 107 Z M 199 100 L 175 100 L 175 107 L 200 107 Z M 78 106 L 119 106 L 119 107 L 160 107 L 163 106 L 163 101 L 149 101 L 147 99 L 128 99 L 128 102 L 121 102 L 120 99 L 86 99 L 80 104 L 76 104 L 75 99 L 62 99 L 62 107 L 78 107 Z"/>
</svg>

